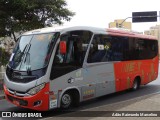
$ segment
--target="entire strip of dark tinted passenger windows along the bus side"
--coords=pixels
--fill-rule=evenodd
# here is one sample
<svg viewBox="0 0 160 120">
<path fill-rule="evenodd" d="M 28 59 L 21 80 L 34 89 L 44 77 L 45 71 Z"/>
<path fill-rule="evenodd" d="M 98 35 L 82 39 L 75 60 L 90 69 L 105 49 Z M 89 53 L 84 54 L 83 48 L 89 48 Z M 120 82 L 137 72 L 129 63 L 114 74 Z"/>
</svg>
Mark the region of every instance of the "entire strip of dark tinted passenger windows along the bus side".
<svg viewBox="0 0 160 120">
<path fill-rule="evenodd" d="M 95 35 L 88 55 L 88 63 L 151 59 L 158 54 L 156 40 Z"/>
</svg>

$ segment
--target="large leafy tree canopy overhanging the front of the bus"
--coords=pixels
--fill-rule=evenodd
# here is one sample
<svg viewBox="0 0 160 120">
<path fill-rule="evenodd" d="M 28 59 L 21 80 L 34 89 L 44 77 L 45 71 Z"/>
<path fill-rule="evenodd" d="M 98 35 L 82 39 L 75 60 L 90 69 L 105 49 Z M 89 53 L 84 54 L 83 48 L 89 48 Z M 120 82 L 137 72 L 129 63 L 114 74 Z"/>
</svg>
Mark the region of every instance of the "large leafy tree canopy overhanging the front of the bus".
<svg viewBox="0 0 160 120">
<path fill-rule="evenodd" d="M 65 0 L 0 0 L 0 36 L 62 24 L 74 15 Z"/>
</svg>

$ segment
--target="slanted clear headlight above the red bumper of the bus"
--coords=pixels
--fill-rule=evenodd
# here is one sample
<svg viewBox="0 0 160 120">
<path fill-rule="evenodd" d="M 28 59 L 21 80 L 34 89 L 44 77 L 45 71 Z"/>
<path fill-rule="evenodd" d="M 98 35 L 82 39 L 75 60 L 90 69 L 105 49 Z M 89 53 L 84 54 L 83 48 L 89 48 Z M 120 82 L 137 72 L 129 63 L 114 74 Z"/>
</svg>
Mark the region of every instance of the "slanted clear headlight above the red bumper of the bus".
<svg viewBox="0 0 160 120">
<path fill-rule="evenodd" d="M 45 83 L 40 84 L 32 89 L 30 89 L 27 93 L 30 95 L 34 95 L 36 93 L 38 93 L 40 90 L 42 90 L 45 87 Z"/>
</svg>

